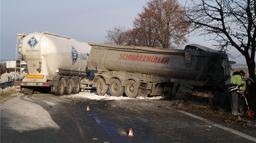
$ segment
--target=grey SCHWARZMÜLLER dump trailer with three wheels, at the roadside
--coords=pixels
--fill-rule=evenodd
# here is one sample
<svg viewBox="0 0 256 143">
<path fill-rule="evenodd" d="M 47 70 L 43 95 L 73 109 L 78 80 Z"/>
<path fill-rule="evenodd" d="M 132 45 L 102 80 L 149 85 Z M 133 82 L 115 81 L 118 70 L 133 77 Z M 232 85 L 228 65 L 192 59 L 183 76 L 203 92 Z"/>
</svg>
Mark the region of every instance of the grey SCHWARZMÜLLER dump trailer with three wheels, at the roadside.
<svg viewBox="0 0 256 143">
<path fill-rule="evenodd" d="M 184 50 L 89 45 L 88 69 L 98 71 L 93 80 L 98 95 L 107 89 L 113 96 L 164 95 L 171 93 L 174 83 L 215 90 L 230 77 L 228 56 L 197 44 Z"/>
</svg>

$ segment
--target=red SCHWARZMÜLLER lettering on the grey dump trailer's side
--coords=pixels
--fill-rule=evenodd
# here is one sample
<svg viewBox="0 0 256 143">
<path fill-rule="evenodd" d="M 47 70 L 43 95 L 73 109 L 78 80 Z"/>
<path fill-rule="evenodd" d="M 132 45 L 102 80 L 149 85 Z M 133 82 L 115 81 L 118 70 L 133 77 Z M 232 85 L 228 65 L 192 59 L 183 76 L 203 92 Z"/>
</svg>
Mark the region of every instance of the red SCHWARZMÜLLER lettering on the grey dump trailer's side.
<svg viewBox="0 0 256 143">
<path fill-rule="evenodd" d="M 130 60 L 130 61 L 142 61 L 149 63 L 164 63 L 168 64 L 170 58 L 168 57 L 156 57 L 156 56 L 145 56 L 145 55 L 132 55 L 132 54 L 120 54 L 120 60 Z"/>
</svg>

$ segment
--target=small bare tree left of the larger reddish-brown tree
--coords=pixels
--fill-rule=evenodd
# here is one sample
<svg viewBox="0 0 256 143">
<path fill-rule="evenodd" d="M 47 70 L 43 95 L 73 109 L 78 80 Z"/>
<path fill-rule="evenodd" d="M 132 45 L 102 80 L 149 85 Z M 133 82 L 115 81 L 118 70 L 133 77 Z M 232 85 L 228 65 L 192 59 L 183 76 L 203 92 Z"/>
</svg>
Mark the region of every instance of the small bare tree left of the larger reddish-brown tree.
<svg viewBox="0 0 256 143">
<path fill-rule="evenodd" d="M 126 28 L 119 26 L 115 26 L 113 29 L 106 30 L 107 35 L 105 38 L 107 39 L 105 42 L 108 44 L 119 44 L 123 45 L 126 41 Z"/>
</svg>

